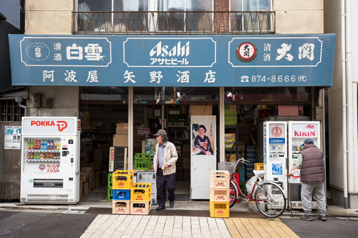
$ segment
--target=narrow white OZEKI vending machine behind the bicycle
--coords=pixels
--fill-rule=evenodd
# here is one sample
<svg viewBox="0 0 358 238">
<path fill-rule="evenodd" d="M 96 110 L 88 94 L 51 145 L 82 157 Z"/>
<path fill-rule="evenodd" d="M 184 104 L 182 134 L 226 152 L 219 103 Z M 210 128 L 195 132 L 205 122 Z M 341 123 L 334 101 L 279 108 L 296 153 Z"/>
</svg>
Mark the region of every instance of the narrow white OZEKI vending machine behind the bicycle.
<svg viewBox="0 0 358 238">
<path fill-rule="evenodd" d="M 287 122 L 263 122 L 264 179 L 277 181 L 287 194 Z"/>
</svg>

